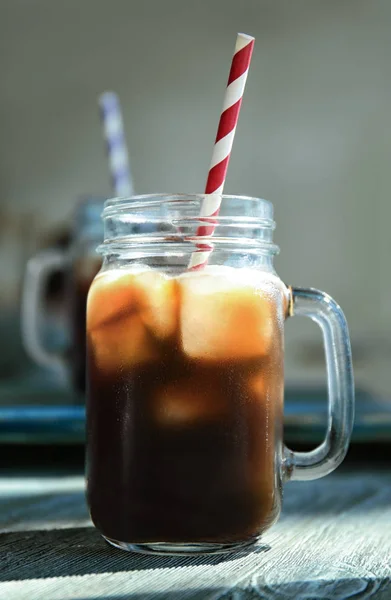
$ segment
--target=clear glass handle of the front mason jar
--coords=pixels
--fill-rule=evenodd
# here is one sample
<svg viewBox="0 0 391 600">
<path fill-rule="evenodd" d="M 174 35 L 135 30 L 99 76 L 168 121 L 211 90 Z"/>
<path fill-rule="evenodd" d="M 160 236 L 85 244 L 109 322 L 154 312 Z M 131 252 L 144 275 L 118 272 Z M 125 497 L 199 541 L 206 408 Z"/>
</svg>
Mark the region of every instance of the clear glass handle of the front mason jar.
<svg viewBox="0 0 391 600">
<path fill-rule="evenodd" d="M 322 444 L 310 452 L 284 450 L 284 475 L 290 480 L 324 477 L 343 461 L 354 421 L 354 382 L 345 316 L 328 294 L 292 288 L 293 315 L 309 317 L 323 333 L 328 382 L 328 423 Z"/>
</svg>

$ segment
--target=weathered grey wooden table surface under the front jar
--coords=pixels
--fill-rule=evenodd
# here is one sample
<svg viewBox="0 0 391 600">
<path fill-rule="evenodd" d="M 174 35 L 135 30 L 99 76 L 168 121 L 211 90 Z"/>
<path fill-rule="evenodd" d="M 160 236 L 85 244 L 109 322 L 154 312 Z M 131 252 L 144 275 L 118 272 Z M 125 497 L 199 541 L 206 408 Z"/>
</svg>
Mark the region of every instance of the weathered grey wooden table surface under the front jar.
<svg viewBox="0 0 391 600">
<path fill-rule="evenodd" d="M 3 600 L 391 600 L 391 475 L 288 483 L 281 519 L 229 557 L 142 556 L 91 526 L 81 476 L 0 478 Z"/>
</svg>

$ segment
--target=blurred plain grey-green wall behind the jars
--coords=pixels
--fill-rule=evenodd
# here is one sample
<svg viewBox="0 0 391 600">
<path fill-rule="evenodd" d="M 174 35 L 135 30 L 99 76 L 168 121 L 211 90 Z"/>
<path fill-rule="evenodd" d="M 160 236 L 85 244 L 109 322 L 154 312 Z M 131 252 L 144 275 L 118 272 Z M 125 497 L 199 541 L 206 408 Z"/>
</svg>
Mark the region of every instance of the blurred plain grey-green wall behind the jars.
<svg viewBox="0 0 391 600">
<path fill-rule="evenodd" d="M 227 193 L 275 206 L 277 271 L 328 291 L 356 379 L 389 396 L 390 0 L 0 0 L 0 309 L 42 232 L 110 195 L 97 96 L 118 92 L 137 192 L 202 191 L 237 31 L 256 37 Z M 324 381 L 316 326 L 289 381 Z M 7 348 L 2 349 L 7 353 Z"/>
</svg>

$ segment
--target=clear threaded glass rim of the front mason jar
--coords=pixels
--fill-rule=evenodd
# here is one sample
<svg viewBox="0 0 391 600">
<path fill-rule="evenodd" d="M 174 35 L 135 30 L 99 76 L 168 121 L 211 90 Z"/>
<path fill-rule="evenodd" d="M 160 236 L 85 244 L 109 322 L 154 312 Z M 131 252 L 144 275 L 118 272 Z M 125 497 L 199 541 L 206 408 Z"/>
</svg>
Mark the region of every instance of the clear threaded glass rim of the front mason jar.
<svg viewBox="0 0 391 600">
<path fill-rule="evenodd" d="M 203 214 L 203 200 L 212 200 L 218 210 Z M 268 200 L 228 194 L 143 194 L 110 198 L 103 210 L 104 243 L 99 251 L 110 247 L 153 244 L 183 244 L 190 251 L 202 243 L 213 247 L 258 248 L 276 254 L 273 244 L 273 205 Z M 210 231 L 199 233 L 200 227 Z"/>
</svg>

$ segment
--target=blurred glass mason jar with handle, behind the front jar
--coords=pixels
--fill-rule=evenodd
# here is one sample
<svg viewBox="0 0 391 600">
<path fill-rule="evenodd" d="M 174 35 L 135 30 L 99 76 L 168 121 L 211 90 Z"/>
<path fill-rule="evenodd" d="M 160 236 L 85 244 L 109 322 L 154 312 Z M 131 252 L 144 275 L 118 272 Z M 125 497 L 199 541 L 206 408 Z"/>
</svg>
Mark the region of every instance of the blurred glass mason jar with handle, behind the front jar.
<svg viewBox="0 0 391 600">
<path fill-rule="evenodd" d="M 70 383 L 79 393 L 85 391 L 85 331 L 87 294 L 101 267 L 96 246 L 103 240 L 101 214 L 103 198 L 87 196 L 76 205 L 71 241 L 64 250 L 49 248 L 33 256 L 27 263 L 22 294 L 22 337 L 31 358 Z M 45 300 L 49 278 L 63 272 L 66 280 L 61 318 L 53 334 L 59 338 L 55 347 L 45 339 L 48 307 Z"/>
</svg>

